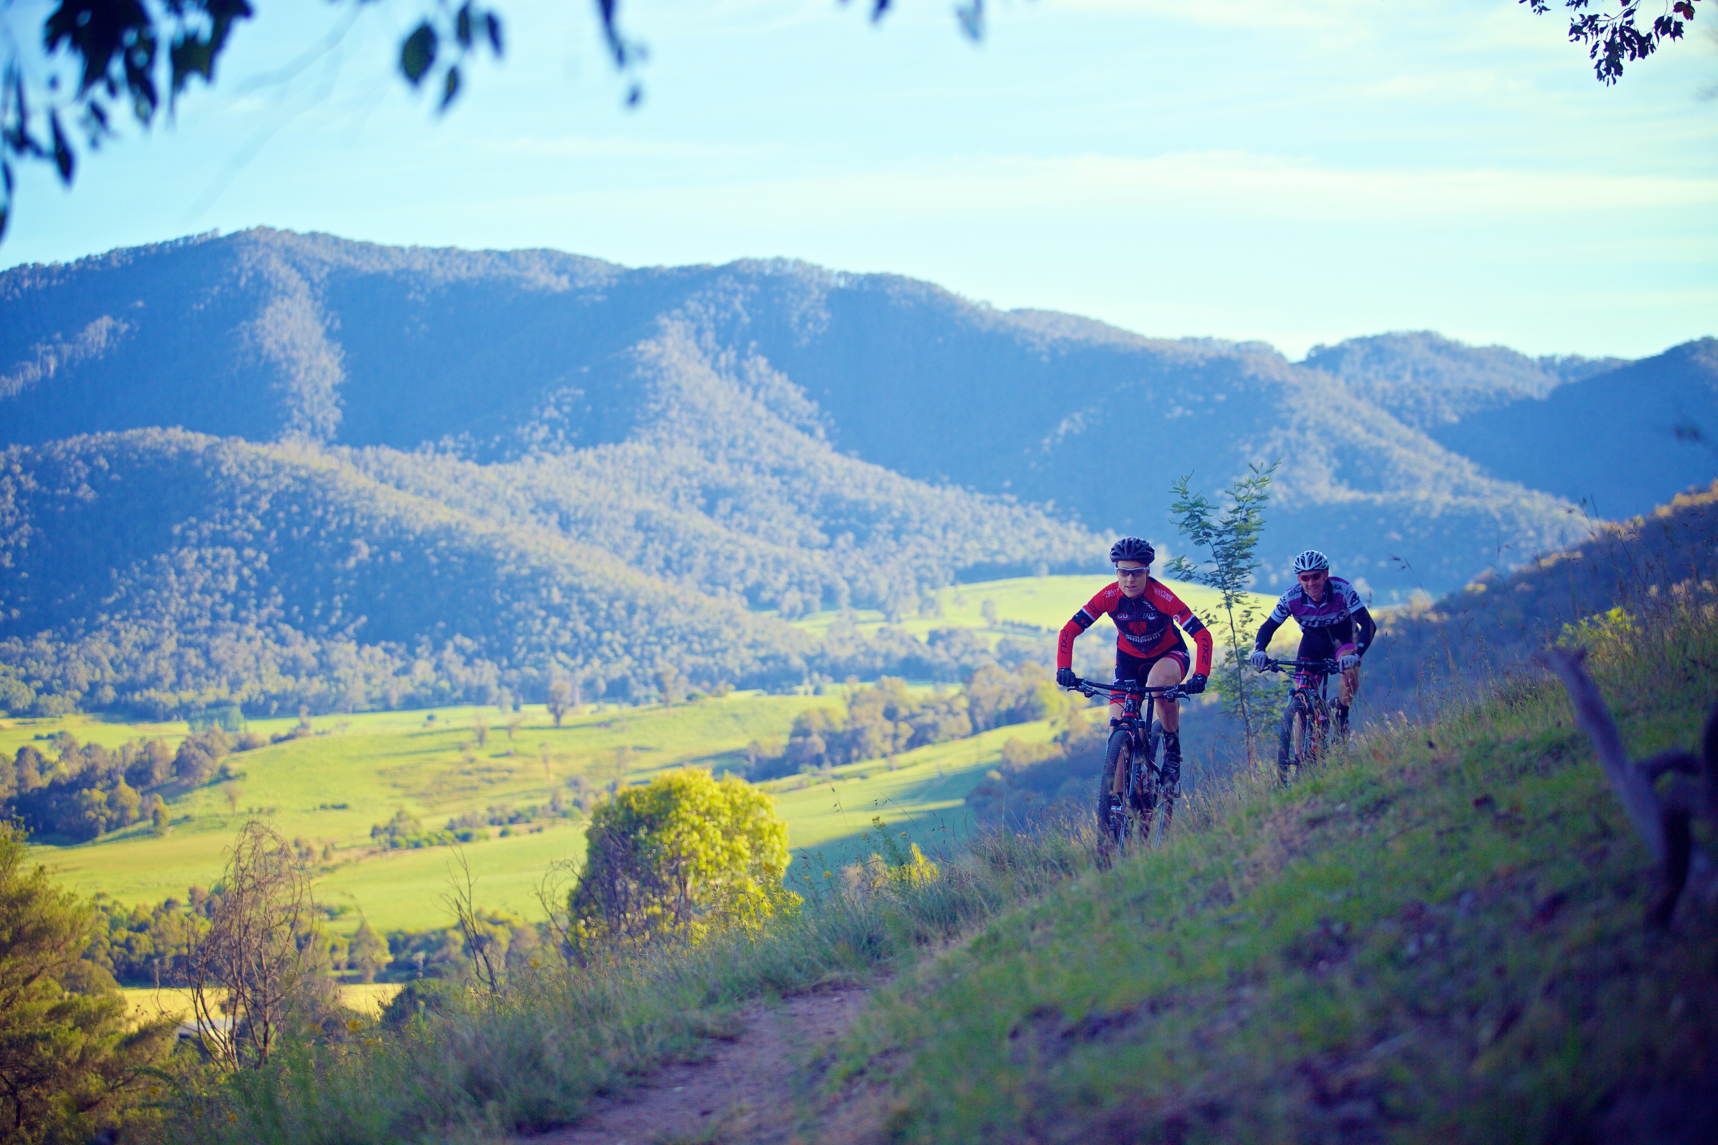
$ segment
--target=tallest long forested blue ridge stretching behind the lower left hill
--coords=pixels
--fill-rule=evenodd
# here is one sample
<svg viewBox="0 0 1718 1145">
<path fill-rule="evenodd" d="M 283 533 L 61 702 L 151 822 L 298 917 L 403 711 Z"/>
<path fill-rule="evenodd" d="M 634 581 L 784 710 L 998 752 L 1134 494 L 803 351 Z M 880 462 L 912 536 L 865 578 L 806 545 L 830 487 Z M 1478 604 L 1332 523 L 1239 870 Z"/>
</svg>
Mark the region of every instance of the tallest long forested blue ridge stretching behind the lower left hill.
<svg viewBox="0 0 1718 1145">
<path fill-rule="evenodd" d="M 1562 498 L 1496 479 L 1268 347 L 998 312 L 928 283 L 802 263 L 625 270 L 546 251 L 390 249 L 253 230 L 14 268 L 0 275 L 0 433 L 14 443 L 182 426 L 251 441 L 430 448 L 582 489 L 570 501 L 550 496 L 560 505 L 553 513 L 524 508 L 512 486 L 483 494 L 539 522 L 598 512 L 624 525 L 620 505 L 637 496 L 651 498 L 653 512 L 685 508 L 691 488 L 651 488 L 655 470 L 636 469 L 639 458 L 655 465 L 670 450 L 675 463 L 699 453 L 694 469 L 715 457 L 758 462 L 777 451 L 773 427 L 746 426 L 763 412 L 801 434 L 795 443 L 823 441 L 916 482 L 1053 505 L 1091 530 L 1158 541 L 1172 539 L 1173 477 L 1194 472 L 1218 488 L 1247 462 L 1280 457 L 1266 587 L 1285 582 L 1292 551 L 1316 544 L 1380 599 L 1402 599 L 1417 584 L 1441 591 L 1582 529 Z M 667 330 L 679 331 L 672 354 L 698 357 L 740 395 L 703 407 L 699 419 L 747 441 L 742 450 L 672 445 L 679 431 L 663 429 L 658 390 L 639 383 Z M 811 457 L 806 448 L 777 458 L 775 488 L 804 484 L 794 467 Z M 414 489 L 448 481 L 428 463 L 354 463 Z M 474 469 L 460 472 L 460 484 L 497 488 Z M 564 512 L 574 503 L 577 512 Z M 706 503 L 739 520 L 732 498 L 715 493 Z M 603 505 L 613 508 L 593 510 Z M 801 548 L 770 518 L 749 532 Z M 862 527 L 819 536 L 840 548 L 847 532 L 864 549 Z M 1075 534 L 1089 536 L 1065 536 Z M 919 561 L 907 577 L 869 566 L 890 548 L 885 539 L 850 570 L 888 580 L 900 601 L 940 575 L 1101 561 L 1093 541 L 1074 554 L 1010 536 L 984 560 L 986 546 L 962 542 L 953 546 L 962 554 Z M 637 537 L 603 544 L 629 563 L 653 551 Z M 744 579 L 710 587 L 768 599 Z M 806 587 L 794 592 L 804 597 Z"/>
</svg>

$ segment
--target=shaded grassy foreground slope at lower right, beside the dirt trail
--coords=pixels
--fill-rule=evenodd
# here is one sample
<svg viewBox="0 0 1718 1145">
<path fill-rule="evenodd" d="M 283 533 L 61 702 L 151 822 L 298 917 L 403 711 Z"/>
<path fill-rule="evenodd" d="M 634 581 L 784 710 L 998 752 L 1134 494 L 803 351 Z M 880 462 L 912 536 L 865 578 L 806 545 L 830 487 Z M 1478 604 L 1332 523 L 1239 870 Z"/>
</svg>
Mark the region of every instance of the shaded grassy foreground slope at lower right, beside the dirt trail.
<svg viewBox="0 0 1718 1145">
<path fill-rule="evenodd" d="M 1718 694 L 1711 618 L 1672 644 L 1596 671 L 1637 759 Z M 921 963 L 840 1076 L 902 1142 L 1603 1138 L 1644 1090 L 1711 1109 L 1718 925 L 1646 932 L 1651 886 L 1524 678 Z"/>
</svg>

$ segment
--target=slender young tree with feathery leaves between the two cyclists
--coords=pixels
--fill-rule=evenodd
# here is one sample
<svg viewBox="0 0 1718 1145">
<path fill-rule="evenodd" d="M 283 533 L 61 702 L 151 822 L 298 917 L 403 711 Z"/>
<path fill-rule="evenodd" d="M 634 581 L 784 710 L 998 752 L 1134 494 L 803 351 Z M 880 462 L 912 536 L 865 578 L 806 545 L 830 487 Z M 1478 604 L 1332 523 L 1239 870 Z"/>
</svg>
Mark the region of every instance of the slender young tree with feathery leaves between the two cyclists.
<svg viewBox="0 0 1718 1145">
<path fill-rule="evenodd" d="M 1237 477 L 1228 488 L 1228 508 L 1218 513 L 1203 493 L 1191 489 L 1192 474 L 1184 476 L 1170 489 L 1175 493 L 1175 529 L 1192 544 L 1211 553 L 1211 565 L 1199 566 L 1185 556 L 1168 561 L 1167 572 L 1182 580 L 1203 584 L 1221 594 L 1225 628 L 1228 630 L 1228 656 L 1221 669 L 1216 671 L 1216 690 L 1223 697 L 1223 707 L 1230 716 L 1239 716 L 1247 736 L 1247 764 L 1258 764 L 1258 726 L 1259 712 L 1254 711 L 1252 690 L 1244 671 L 1247 657 L 1242 645 L 1251 649 L 1252 621 L 1258 608 L 1247 596 L 1252 573 L 1259 568 L 1254 549 L 1259 546 L 1259 534 L 1264 532 L 1264 506 L 1271 500 L 1271 476 L 1282 462 L 1270 465 L 1249 465 L 1246 477 Z M 1215 618 L 1206 618 L 1211 628 Z"/>
</svg>

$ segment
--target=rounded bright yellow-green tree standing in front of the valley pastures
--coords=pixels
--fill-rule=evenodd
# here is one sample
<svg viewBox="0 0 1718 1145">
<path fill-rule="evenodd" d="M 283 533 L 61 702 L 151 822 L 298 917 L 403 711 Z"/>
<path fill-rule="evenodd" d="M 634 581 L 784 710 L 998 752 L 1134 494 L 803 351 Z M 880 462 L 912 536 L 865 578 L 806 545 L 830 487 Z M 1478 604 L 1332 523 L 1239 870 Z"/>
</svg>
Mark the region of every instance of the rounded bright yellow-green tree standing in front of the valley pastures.
<svg viewBox="0 0 1718 1145">
<path fill-rule="evenodd" d="M 567 894 L 570 953 L 591 961 L 761 925 L 795 901 L 785 872 L 787 824 L 758 788 L 694 767 L 625 788 L 591 815 Z"/>
</svg>

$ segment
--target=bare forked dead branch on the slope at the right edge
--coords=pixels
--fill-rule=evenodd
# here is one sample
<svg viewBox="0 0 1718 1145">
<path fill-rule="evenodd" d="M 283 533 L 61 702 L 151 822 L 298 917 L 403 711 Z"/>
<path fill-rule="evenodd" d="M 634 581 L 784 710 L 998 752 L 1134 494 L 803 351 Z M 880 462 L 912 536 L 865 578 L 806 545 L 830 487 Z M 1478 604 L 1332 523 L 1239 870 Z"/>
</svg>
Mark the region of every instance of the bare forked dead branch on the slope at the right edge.
<svg viewBox="0 0 1718 1145">
<path fill-rule="evenodd" d="M 1675 915 L 1677 903 L 1684 889 L 1692 889 L 1696 896 L 1718 881 L 1718 867 L 1711 857 L 1694 845 L 1692 819 L 1708 815 L 1718 822 L 1718 704 L 1706 718 L 1706 730 L 1701 736 L 1701 755 L 1673 748 L 1651 759 L 1630 764 L 1622 747 L 1622 735 L 1617 721 L 1611 719 L 1610 707 L 1599 688 L 1593 683 L 1582 661 L 1586 651 L 1546 649 L 1534 659 L 1557 673 L 1569 700 L 1575 709 L 1575 721 L 1593 740 L 1593 752 L 1598 755 L 1605 778 L 1611 781 L 1624 810 L 1646 843 L 1648 853 L 1663 875 L 1660 893 L 1648 905 L 1646 918 L 1651 925 L 1668 925 Z M 1660 776 L 1672 774 L 1677 779 L 1663 797 L 1654 788 Z M 1682 776 L 1696 776 L 1697 785 L 1691 785 Z"/>
</svg>

